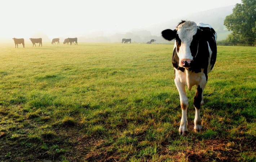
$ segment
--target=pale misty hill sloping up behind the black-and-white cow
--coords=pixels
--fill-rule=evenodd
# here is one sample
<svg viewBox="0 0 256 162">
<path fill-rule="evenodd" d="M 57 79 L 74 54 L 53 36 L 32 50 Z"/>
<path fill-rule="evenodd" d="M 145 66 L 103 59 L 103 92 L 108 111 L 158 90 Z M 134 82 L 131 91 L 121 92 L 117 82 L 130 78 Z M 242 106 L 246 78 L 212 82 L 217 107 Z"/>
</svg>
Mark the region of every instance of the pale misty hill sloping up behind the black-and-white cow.
<svg viewBox="0 0 256 162">
<path fill-rule="evenodd" d="M 216 8 L 211 10 L 206 10 L 203 12 L 197 12 L 193 14 L 186 15 L 184 17 L 172 18 L 169 21 L 154 24 L 152 26 L 147 26 L 142 29 L 132 29 L 126 33 L 115 33 L 112 35 L 104 35 L 101 31 L 100 34 L 93 33 L 92 35 L 84 35 L 78 39 L 85 42 L 121 42 L 122 38 L 131 38 L 132 42 L 147 42 L 151 39 L 156 39 L 157 43 L 167 42 L 161 36 L 161 32 L 167 28 L 174 29 L 178 22 L 181 20 L 191 20 L 196 23 L 204 22 L 211 24 L 218 34 L 218 40 L 224 40 L 231 33 L 231 31 L 226 30 L 223 25 L 224 19 L 227 15 L 232 13 L 234 5 L 225 6 L 222 8 Z M 100 35 L 100 36 L 96 36 Z"/>
</svg>

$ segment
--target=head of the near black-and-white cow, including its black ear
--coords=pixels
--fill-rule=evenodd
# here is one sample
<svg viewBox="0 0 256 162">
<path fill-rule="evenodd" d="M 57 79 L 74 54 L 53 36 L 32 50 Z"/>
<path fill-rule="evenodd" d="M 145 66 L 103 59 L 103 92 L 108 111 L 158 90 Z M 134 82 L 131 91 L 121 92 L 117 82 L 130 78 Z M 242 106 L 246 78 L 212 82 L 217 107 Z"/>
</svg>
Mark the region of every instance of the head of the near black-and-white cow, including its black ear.
<svg viewBox="0 0 256 162">
<path fill-rule="evenodd" d="M 198 41 L 200 31 L 193 21 L 181 21 L 175 30 L 167 29 L 162 31 L 166 40 L 176 40 L 173 50 L 179 58 L 180 67 L 190 67 L 198 52 Z"/>
</svg>

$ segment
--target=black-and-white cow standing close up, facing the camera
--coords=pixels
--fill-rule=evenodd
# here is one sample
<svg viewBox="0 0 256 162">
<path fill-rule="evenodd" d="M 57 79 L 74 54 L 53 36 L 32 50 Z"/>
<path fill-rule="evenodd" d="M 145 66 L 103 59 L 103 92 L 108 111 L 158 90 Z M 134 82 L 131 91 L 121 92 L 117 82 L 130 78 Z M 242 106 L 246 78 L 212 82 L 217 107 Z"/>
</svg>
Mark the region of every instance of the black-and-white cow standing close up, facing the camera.
<svg viewBox="0 0 256 162">
<path fill-rule="evenodd" d="M 176 40 L 173 47 L 172 64 L 175 85 L 180 94 L 182 109 L 180 135 L 187 134 L 187 107 L 189 105 L 185 85 L 188 90 L 197 86 L 194 96 L 194 131 L 201 132 L 200 106 L 203 104 L 203 91 L 217 57 L 217 33 L 209 24 L 181 21 L 175 30 L 162 31 L 166 40 Z"/>
</svg>

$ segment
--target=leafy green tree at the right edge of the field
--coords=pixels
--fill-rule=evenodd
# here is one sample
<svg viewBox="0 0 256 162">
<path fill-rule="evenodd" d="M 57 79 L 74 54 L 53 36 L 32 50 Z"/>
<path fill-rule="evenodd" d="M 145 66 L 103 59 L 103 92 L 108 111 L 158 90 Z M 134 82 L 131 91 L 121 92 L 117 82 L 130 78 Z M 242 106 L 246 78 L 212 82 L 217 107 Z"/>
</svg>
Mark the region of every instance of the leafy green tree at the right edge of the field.
<svg viewBox="0 0 256 162">
<path fill-rule="evenodd" d="M 227 39 L 232 44 L 255 44 L 256 0 L 242 0 L 242 4 L 236 4 L 233 13 L 226 16 L 224 25 L 232 31 Z"/>
</svg>

